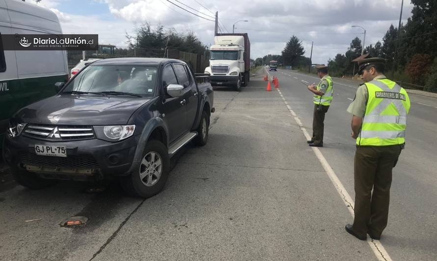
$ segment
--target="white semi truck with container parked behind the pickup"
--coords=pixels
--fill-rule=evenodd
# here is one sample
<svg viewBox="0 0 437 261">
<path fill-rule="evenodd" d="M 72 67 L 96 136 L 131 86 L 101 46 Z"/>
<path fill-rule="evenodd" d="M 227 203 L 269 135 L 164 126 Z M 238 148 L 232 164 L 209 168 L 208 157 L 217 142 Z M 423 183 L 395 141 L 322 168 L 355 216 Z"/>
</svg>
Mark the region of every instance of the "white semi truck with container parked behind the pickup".
<svg viewBox="0 0 437 261">
<path fill-rule="evenodd" d="M 250 80 L 250 42 L 247 33 L 217 34 L 210 47 L 209 67 L 213 85 L 228 85 L 240 91 Z"/>
</svg>

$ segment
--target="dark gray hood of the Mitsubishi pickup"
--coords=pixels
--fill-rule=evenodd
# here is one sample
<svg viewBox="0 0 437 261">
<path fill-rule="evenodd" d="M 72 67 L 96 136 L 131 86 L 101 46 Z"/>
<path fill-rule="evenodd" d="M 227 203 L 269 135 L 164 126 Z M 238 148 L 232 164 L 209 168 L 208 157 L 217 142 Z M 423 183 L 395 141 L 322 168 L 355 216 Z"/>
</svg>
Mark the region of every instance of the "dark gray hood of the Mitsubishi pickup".
<svg viewBox="0 0 437 261">
<path fill-rule="evenodd" d="M 55 95 L 21 109 L 26 123 L 58 125 L 122 125 L 150 97 Z"/>
</svg>

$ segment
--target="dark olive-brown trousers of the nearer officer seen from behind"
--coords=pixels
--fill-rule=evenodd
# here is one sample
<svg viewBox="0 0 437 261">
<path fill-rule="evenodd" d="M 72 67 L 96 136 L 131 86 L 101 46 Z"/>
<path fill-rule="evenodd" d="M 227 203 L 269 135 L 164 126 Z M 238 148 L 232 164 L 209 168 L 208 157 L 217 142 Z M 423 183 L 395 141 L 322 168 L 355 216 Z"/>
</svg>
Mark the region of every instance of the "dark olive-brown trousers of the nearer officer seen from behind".
<svg viewBox="0 0 437 261">
<path fill-rule="evenodd" d="M 360 237 L 379 237 L 387 226 L 392 169 L 400 154 L 401 145 L 356 146 L 353 230 Z"/>
</svg>

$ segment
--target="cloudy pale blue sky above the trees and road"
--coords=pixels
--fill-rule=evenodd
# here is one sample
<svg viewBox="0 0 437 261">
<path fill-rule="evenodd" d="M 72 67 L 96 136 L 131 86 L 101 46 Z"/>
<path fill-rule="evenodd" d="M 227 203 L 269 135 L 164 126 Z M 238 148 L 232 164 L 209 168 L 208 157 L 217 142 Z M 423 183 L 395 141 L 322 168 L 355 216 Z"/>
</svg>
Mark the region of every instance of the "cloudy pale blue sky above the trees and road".
<svg viewBox="0 0 437 261">
<path fill-rule="evenodd" d="M 390 24 L 397 27 L 401 11 L 401 0 L 41 0 L 38 5 L 57 14 L 64 34 L 99 34 L 99 44 L 117 47 L 126 47 L 126 32 L 144 22 L 180 33 L 191 30 L 212 45 L 214 22 L 207 19 L 214 20 L 218 11 L 219 32 L 231 33 L 234 23 L 248 21 L 235 24 L 235 32 L 248 33 L 252 59 L 280 54 L 296 35 L 307 57 L 314 42 L 312 62 L 317 64 L 345 53 L 355 37 L 363 39 L 363 29 L 352 25 L 365 28 L 366 46 L 381 41 Z M 404 1 L 403 23 L 412 7 Z"/>
</svg>

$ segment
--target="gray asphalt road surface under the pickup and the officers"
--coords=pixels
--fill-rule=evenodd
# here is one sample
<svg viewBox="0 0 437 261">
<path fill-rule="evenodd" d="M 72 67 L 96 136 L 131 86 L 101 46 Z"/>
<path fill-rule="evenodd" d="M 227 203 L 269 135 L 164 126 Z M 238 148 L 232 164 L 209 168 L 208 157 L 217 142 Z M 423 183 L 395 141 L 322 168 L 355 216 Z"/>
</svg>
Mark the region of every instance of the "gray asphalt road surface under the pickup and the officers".
<svg viewBox="0 0 437 261">
<path fill-rule="evenodd" d="M 348 207 L 259 73 L 240 93 L 215 90 L 208 144 L 188 145 L 177 155 L 166 187 L 150 199 L 125 197 L 116 184 L 94 194 L 85 192 L 90 185 L 70 182 L 27 190 L 0 167 L 0 260 L 376 260 L 367 242 L 344 231 L 352 221 Z M 311 130 L 312 97 L 300 79 L 316 79 L 274 74 Z M 335 85 L 321 148 L 352 196 L 355 146 L 345 110 L 354 92 Z M 422 106 L 412 105 L 381 240 L 393 260 L 437 257 L 437 108 Z M 87 216 L 88 223 L 59 226 L 73 215 Z M 30 219 L 41 220 L 25 222 Z"/>
</svg>

